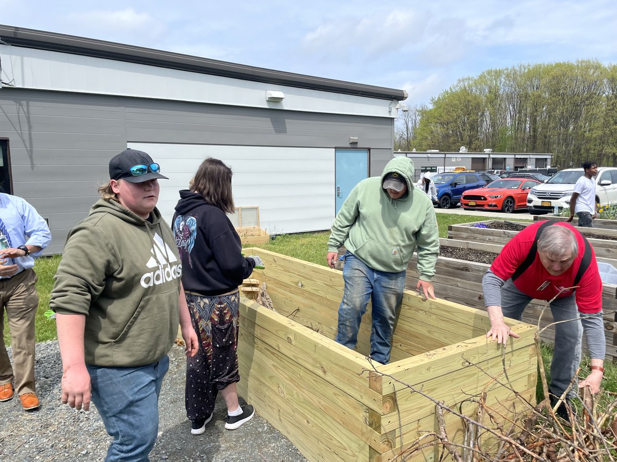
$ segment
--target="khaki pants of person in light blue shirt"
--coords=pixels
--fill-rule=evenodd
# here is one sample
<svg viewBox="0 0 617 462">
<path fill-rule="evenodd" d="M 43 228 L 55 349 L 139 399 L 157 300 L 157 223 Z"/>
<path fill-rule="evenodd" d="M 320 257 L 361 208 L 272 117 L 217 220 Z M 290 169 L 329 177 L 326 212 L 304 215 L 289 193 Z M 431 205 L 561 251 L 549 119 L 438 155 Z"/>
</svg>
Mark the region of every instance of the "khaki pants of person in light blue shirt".
<svg viewBox="0 0 617 462">
<path fill-rule="evenodd" d="M 0 385 L 11 383 L 18 395 L 35 393 L 35 314 L 38 306 L 36 274 L 23 270 L 0 279 L 0 331 L 4 333 L 4 310 L 9 321 L 14 368 L 4 343 L 0 348 Z"/>
</svg>

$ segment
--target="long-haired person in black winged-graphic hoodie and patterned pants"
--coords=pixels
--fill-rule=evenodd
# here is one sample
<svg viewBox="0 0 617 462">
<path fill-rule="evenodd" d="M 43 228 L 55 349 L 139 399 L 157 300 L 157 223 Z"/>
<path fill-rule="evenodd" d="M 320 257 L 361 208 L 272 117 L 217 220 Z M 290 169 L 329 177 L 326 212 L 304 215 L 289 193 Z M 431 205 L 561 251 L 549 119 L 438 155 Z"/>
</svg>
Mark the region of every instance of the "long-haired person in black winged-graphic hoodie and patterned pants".
<svg viewBox="0 0 617 462">
<path fill-rule="evenodd" d="M 259 257 L 243 257 L 238 233 L 226 216 L 234 212 L 231 169 L 207 158 L 190 190 L 180 191 L 173 233 L 182 261 L 186 302 L 199 338 L 199 351 L 186 360 L 186 416 L 191 433 L 202 434 L 212 419 L 218 391 L 227 405 L 225 428 L 252 419 L 255 410 L 238 404 L 239 290 Z"/>
</svg>

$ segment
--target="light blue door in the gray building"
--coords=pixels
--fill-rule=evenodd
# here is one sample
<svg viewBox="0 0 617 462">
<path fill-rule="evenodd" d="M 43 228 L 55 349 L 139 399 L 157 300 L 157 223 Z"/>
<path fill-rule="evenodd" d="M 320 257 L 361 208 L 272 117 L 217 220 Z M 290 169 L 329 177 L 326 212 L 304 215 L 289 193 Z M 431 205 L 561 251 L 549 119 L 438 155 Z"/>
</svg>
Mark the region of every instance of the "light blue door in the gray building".
<svg viewBox="0 0 617 462">
<path fill-rule="evenodd" d="M 354 186 L 368 177 L 368 150 L 337 149 L 334 159 L 336 213 L 339 213 Z"/>
</svg>

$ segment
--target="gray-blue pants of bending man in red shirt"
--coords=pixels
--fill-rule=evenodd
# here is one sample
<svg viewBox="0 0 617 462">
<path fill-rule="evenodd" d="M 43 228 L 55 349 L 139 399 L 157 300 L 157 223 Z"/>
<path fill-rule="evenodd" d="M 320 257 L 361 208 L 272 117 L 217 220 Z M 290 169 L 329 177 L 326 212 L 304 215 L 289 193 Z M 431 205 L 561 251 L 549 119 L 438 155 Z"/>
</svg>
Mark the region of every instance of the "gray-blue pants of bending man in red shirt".
<svg viewBox="0 0 617 462">
<path fill-rule="evenodd" d="M 502 287 L 502 311 L 508 318 L 521 320 L 523 310 L 531 301 L 508 279 Z M 574 295 L 555 299 L 550 304 L 550 312 L 555 322 L 574 319 L 555 325 L 555 350 L 553 362 L 550 363 L 549 389 L 553 395 L 561 396 L 568 388 L 581 362 L 582 324 Z M 568 397 L 576 395 L 576 385 Z"/>
</svg>

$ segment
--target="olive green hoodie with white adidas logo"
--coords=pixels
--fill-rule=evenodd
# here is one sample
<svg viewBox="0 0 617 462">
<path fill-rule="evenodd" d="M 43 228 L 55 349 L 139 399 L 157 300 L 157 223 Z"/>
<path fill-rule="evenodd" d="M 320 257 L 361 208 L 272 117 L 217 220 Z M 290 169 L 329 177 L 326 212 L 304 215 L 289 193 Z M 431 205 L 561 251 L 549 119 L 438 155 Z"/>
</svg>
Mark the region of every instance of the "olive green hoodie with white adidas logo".
<svg viewBox="0 0 617 462">
<path fill-rule="evenodd" d="M 68 233 L 49 306 L 86 315 L 86 364 L 146 365 L 176 339 L 182 265 L 158 209 L 150 220 L 101 199 Z"/>
</svg>

